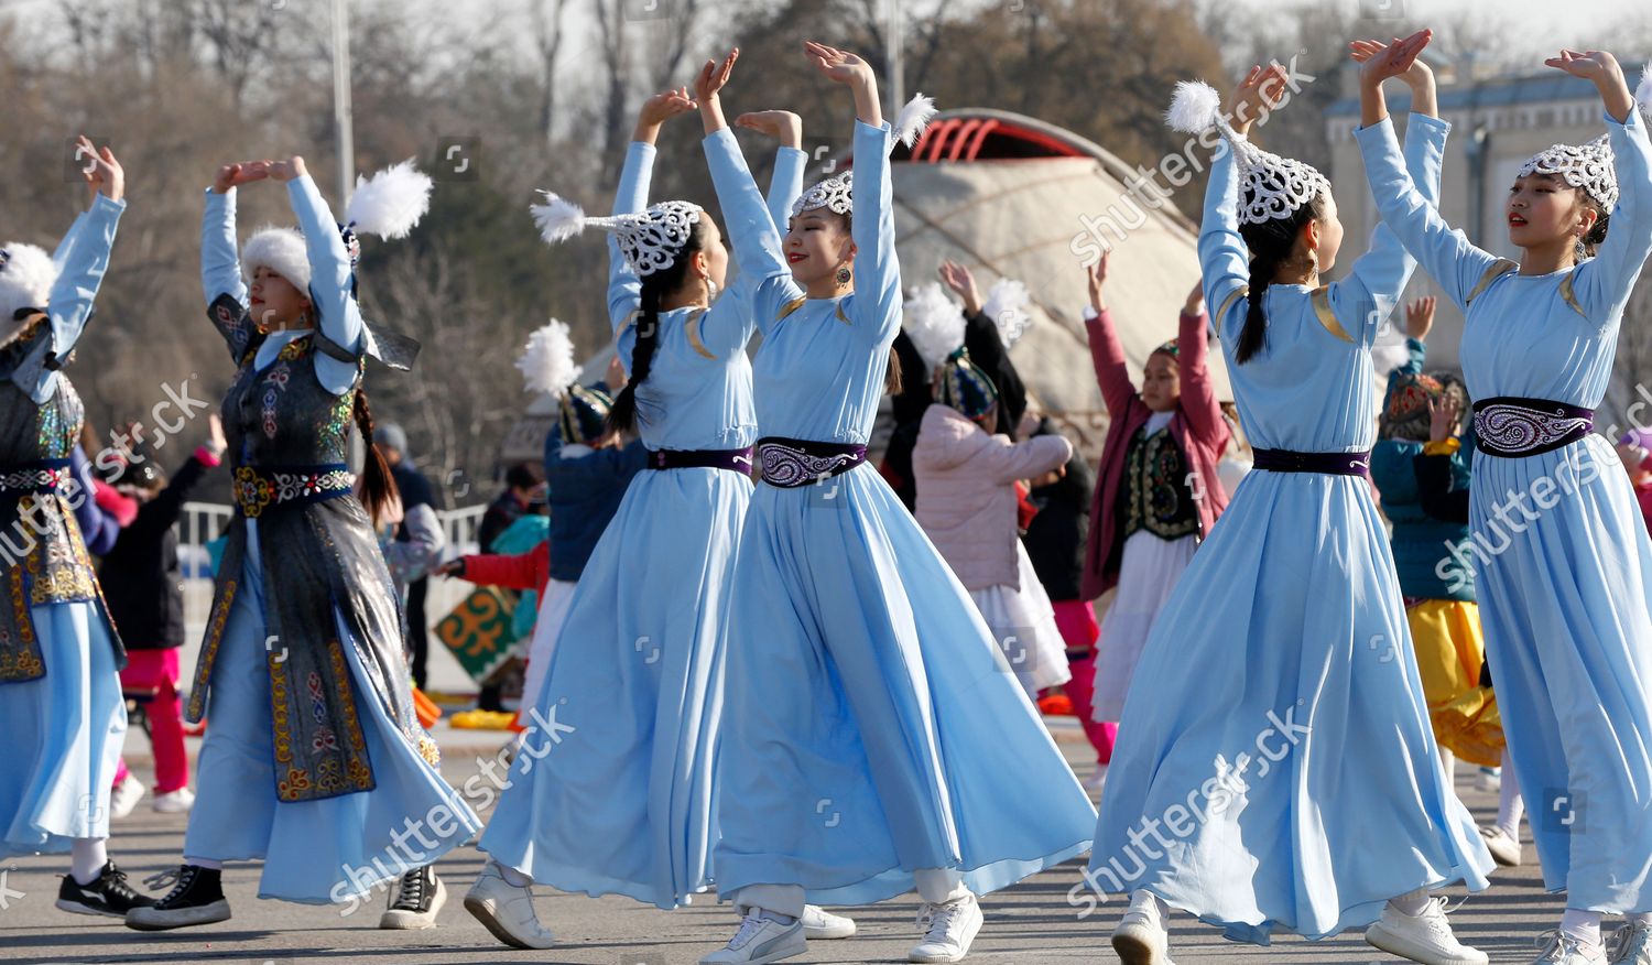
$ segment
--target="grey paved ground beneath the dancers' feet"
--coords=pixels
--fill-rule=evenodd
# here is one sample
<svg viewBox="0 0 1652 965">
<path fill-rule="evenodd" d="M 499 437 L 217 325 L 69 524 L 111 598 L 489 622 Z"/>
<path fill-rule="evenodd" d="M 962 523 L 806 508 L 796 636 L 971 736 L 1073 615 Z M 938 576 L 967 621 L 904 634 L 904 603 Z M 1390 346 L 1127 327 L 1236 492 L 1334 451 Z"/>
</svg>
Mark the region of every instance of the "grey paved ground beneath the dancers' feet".
<svg viewBox="0 0 1652 965">
<path fill-rule="evenodd" d="M 1070 720 L 1052 724 L 1062 749 L 1080 773 L 1087 770 L 1087 747 Z M 439 729 L 446 753 L 446 775 L 461 785 L 474 773 L 474 758 L 501 744 L 494 734 Z M 129 744 L 134 770 L 149 777 L 142 735 Z M 1495 796 L 1474 790 L 1467 777 L 1459 791 L 1479 818 L 1495 810 Z M 183 844 L 185 816 L 157 815 L 147 798 L 131 818 L 116 825 L 111 851 L 134 879 L 172 868 Z M 1533 859 L 1530 838 L 1528 861 Z M 577 965 L 692 965 L 699 955 L 719 947 L 737 920 L 727 906 L 707 901 L 677 912 L 641 907 L 626 899 L 586 899 L 545 894 L 539 899 L 540 919 L 567 942 L 550 952 L 517 952 L 499 945 L 461 906 L 461 896 L 481 869 L 474 849 L 454 853 L 438 866 L 451 892 L 439 915 L 439 929 L 426 932 L 380 932 L 377 915 L 362 912 L 340 919 L 332 909 L 261 902 L 254 897 L 258 864 L 231 866 L 225 891 L 235 919 L 172 934 L 140 934 L 114 919 L 69 915 L 53 907 L 58 877 L 66 858 L 17 859 L 0 877 L 0 960 L 71 965 L 88 962 L 233 962 L 304 965 L 312 962 L 362 963 L 449 963 L 449 962 L 555 962 Z M 1079 863 L 1041 874 L 991 896 L 986 927 L 970 962 L 978 965 L 1039 962 L 1117 962 L 1107 934 L 1120 904 L 1077 920 L 1067 904 L 1067 889 L 1079 881 Z M 1492 955 L 1492 962 L 1528 963 L 1535 957 L 1531 937 L 1553 927 L 1561 902 L 1541 889 L 1535 864 L 1500 871 L 1490 891 L 1474 896 L 1452 914 L 1457 934 Z M 544 891 L 544 889 L 542 889 Z M 21 892 L 21 894 L 18 894 Z M 1464 891 L 1454 889 L 1454 901 Z M 917 901 L 852 909 L 861 935 L 847 942 L 816 942 L 795 962 L 904 962 L 917 930 Z M 1234 945 L 1209 927 L 1186 917 L 1173 922 L 1171 950 L 1178 965 L 1260 965 L 1376 963 L 1398 962 L 1365 945 L 1358 935 L 1308 945 L 1287 939 L 1270 948 Z"/>
</svg>

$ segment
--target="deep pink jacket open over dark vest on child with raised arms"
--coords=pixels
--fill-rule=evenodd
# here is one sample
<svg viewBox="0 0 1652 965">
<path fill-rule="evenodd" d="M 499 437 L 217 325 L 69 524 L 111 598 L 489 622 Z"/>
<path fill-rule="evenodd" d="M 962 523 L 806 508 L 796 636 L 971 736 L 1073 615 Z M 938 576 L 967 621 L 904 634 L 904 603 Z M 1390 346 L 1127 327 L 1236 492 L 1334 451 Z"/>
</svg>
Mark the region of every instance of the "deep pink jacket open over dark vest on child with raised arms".
<svg viewBox="0 0 1652 965">
<path fill-rule="evenodd" d="M 1090 540 L 1084 547 L 1084 577 L 1079 587 L 1080 600 L 1095 600 L 1118 585 L 1118 560 L 1123 555 L 1123 539 L 1118 519 L 1118 491 L 1125 479 L 1125 458 L 1130 440 L 1153 415 L 1142 393 L 1130 382 L 1125 367 L 1125 347 L 1108 312 L 1085 317 L 1090 334 L 1090 362 L 1095 364 L 1095 380 L 1107 403 L 1107 441 L 1102 446 L 1102 464 L 1095 473 L 1095 497 L 1090 502 Z M 1204 342 L 1204 314 L 1181 316 L 1176 344 L 1181 357 L 1176 362 L 1181 375 L 1181 402 L 1170 416 L 1170 435 L 1181 448 L 1188 469 L 1198 478 L 1194 501 L 1199 509 L 1199 540 L 1211 535 L 1216 517 L 1227 509 L 1227 491 L 1222 489 L 1216 464 L 1227 449 L 1227 423 L 1216 402 L 1211 370 L 1206 364 L 1209 347 Z"/>
</svg>

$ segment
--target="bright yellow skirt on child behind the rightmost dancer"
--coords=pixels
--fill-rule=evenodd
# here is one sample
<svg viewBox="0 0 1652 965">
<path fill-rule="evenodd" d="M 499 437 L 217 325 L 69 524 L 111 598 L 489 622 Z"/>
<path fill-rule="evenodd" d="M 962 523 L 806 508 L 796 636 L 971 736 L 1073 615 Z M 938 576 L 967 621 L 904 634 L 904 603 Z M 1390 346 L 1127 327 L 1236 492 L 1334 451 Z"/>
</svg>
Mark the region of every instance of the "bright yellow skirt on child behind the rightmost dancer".
<svg viewBox="0 0 1652 965">
<path fill-rule="evenodd" d="M 1406 608 L 1406 620 L 1434 739 L 1462 760 L 1497 767 L 1503 755 L 1503 725 L 1497 697 L 1480 686 L 1485 659 L 1480 608 L 1462 600 L 1424 600 Z"/>
</svg>

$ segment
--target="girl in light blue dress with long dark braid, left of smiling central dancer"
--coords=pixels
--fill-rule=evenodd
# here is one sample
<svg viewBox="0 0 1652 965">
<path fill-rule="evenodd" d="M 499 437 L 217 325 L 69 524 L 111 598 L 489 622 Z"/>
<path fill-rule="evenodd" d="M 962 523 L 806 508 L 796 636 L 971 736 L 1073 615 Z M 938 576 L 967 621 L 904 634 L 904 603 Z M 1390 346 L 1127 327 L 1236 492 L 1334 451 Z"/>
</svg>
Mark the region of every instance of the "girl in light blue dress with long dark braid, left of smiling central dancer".
<svg viewBox="0 0 1652 965">
<path fill-rule="evenodd" d="M 687 91 L 644 104 L 613 218 L 560 200 L 535 208 L 547 240 L 585 225 L 613 233 L 608 309 L 631 380 L 608 430 L 634 425 L 649 453 L 573 590 L 539 701 L 522 712 L 522 750 L 482 834 L 489 863 L 464 901 L 519 948 L 555 940 L 534 915 L 532 882 L 661 909 L 712 886 L 725 600 L 757 413 L 748 276 L 719 297 L 729 254 L 710 215 L 648 205 L 659 127 L 692 109 Z M 801 159 L 781 149 L 776 193 L 798 190 Z M 770 220 L 755 188 L 725 198 L 725 215 Z M 852 932 L 847 919 L 816 915 Z"/>
</svg>

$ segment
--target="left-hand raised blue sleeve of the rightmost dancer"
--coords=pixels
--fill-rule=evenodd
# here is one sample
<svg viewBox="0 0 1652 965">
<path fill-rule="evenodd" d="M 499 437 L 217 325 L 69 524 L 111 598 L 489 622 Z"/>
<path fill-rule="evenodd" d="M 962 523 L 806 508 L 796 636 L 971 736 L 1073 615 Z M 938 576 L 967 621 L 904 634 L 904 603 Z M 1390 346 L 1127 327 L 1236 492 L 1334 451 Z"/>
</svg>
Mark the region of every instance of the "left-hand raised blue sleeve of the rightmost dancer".
<svg viewBox="0 0 1652 965">
<path fill-rule="evenodd" d="M 1469 294 L 1498 261 L 1497 256 L 1474 246 L 1462 231 L 1452 231 L 1419 192 L 1403 164 L 1391 119 L 1384 117 L 1381 124 L 1355 131 L 1355 139 L 1360 142 L 1365 175 L 1371 182 L 1371 195 L 1376 198 L 1383 223 L 1446 291 L 1446 297 L 1459 309 L 1469 311 Z"/>
</svg>

